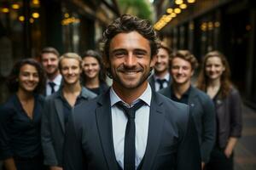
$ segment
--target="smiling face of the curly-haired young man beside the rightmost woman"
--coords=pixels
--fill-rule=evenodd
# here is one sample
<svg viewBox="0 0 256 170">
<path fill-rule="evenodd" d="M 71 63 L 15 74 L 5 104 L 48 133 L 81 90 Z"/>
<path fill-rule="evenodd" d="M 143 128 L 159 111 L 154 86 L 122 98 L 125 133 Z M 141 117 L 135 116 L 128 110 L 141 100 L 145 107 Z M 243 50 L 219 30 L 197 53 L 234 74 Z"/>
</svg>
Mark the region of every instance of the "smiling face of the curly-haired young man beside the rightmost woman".
<svg viewBox="0 0 256 170">
<path fill-rule="evenodd" d="M 172 59 L 171 74 L 174 83 L 185 84 L 190 83 L 190 78 L 193 76 L 194 71 L 189 61 L 175 57 Z"/>
</svg>

